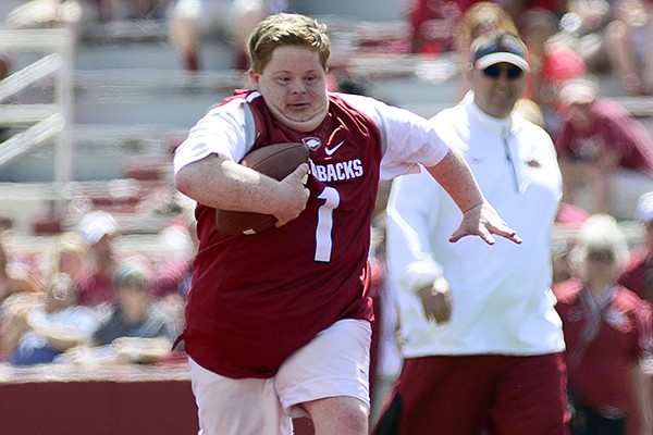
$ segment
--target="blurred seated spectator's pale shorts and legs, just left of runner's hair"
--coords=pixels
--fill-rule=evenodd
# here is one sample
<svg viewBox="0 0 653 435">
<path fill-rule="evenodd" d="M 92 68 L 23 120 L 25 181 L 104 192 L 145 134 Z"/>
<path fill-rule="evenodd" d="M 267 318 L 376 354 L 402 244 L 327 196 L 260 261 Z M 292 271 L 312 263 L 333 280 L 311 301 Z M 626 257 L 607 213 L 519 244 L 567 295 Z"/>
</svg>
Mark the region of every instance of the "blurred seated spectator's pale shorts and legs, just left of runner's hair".
<svg viewBox="0 0 653 435">
<path fill-rule="evenodd" d="M 168 16 L 170 39 L 186 71 L 201 70 L 201 39 L 214 34 L 230 42 L 233 67 L 247 70 L 249 34 L 266 15 L 284 9 L 283 0 L 175 0 Z"/>
</svg>

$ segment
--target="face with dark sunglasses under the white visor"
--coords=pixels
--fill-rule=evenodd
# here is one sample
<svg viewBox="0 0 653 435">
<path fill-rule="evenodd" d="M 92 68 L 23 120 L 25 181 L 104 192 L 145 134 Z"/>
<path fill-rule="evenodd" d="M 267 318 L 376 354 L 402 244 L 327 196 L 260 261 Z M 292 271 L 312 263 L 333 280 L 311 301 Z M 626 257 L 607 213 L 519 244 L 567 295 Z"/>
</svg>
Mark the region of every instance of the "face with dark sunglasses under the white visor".
<svg viewBox="0 0 653 435">
<path fill-rule="evenodd" d="M 478 107 L 493 117 L 506 117 L 523 94 L 526 72 L 512 63 L 472 69 L 471 88 Z"/>
</svg>

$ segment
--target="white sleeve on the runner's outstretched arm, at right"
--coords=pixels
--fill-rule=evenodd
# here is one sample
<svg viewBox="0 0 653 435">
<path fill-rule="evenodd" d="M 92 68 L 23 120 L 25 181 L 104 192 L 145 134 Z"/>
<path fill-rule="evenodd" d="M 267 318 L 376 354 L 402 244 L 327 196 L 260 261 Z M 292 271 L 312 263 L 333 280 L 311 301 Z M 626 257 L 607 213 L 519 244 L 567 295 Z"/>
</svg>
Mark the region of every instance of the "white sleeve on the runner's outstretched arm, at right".
<svg viewBox="0 0 653 435">
<path fill-rule="evenodd" d="M 446 156 L 448 147 L 426 119 L 373 98 L 352 95 L 342 97 L 377 121 L 382 136 L 386 138 L 381 178 L 391 179 L 402 174 L 419 172 L 417 163 L 433 166 Z"/>
</svg>

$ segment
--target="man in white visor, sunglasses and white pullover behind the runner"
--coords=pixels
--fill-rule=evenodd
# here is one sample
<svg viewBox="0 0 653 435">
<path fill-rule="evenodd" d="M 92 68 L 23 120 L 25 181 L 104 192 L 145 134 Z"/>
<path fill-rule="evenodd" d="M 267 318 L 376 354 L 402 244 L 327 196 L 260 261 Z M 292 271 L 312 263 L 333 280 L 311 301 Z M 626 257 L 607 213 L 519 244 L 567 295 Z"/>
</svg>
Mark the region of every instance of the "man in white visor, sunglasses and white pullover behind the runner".
<svg viewBox="0 0 653 435">
<path fill-rule="evenodd" d="M 460 212 L 448 195 L 423 173 L 395 179 L 387 263 L 405 360 L 378 435 L 568 433 L 550 289 L 560 172 L 550 136 L 515 110 L 529 71 L 521 40 L 491 33 L 471 52 L 471 91 L 431 121 L 523 243 L 449 244 Z"/>
</svg>

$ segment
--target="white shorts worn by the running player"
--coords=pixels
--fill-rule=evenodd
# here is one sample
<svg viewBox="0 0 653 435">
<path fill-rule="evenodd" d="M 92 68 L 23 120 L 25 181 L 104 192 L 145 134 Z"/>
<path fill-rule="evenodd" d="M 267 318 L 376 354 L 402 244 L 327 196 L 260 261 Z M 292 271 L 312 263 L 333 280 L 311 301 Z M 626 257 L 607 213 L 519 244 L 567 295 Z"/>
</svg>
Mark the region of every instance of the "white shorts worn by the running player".
<svg viewBox="0 0 653 435">
<path fill-rule="evenodd" d="M 276 375 L 234 380 L 190 363 L 199 435 L 292 434 L 301 403 L 355 397 L 369 409 L 370 323 L 342 320 L 293 353 Z"/>
</svg>

